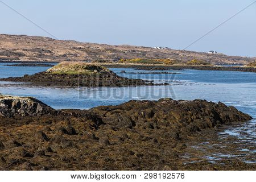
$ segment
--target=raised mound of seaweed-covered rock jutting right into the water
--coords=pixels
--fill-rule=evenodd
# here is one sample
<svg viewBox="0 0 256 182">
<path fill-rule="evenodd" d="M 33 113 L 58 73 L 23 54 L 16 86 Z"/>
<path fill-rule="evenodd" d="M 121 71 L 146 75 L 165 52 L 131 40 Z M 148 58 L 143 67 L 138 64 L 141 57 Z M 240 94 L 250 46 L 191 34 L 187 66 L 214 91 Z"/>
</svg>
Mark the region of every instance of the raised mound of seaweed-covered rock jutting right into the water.
<svg viewBox="0 0 256 182">
<path fill-rule="evenodd" d="M 247 121 L 251 117 L 233 106 L 205 100 L 129 101 L 118 106 L 100 106 L 91 109 L 105 123 L 121 128 L 159 129 L 181 133 L 195 132 L 234 121 Z"/>
</svg>

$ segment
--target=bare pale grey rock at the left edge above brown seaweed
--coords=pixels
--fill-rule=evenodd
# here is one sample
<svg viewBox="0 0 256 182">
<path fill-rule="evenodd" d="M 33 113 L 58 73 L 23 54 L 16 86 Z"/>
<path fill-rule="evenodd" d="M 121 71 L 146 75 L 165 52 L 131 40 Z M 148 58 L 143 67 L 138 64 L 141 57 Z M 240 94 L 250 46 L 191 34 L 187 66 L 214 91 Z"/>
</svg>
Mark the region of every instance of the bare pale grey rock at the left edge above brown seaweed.
<svg viewBox="0 0 256 182">
<path fill-rule="evenodd" d="M 0 116 L 14 115 L 43 115 L 51 113 L 53 109 L 32 97 L 13 97 L 0 95 Z"/>
</svg>

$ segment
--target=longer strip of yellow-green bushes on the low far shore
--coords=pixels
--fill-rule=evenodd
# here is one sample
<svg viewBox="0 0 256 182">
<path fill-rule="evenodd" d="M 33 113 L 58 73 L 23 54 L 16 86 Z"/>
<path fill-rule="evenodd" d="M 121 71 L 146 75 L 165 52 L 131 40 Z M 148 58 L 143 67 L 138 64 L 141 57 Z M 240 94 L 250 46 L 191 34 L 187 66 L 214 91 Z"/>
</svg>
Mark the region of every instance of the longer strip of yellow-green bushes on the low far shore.
<svg viewBox="0 0 256 182">
<path fill-rule="evenodd" d="M 176 64 L 177 60 L 174 59 L 121 59 L 118 63 L 134 63 L 134 64 Z"/>
</svg>

